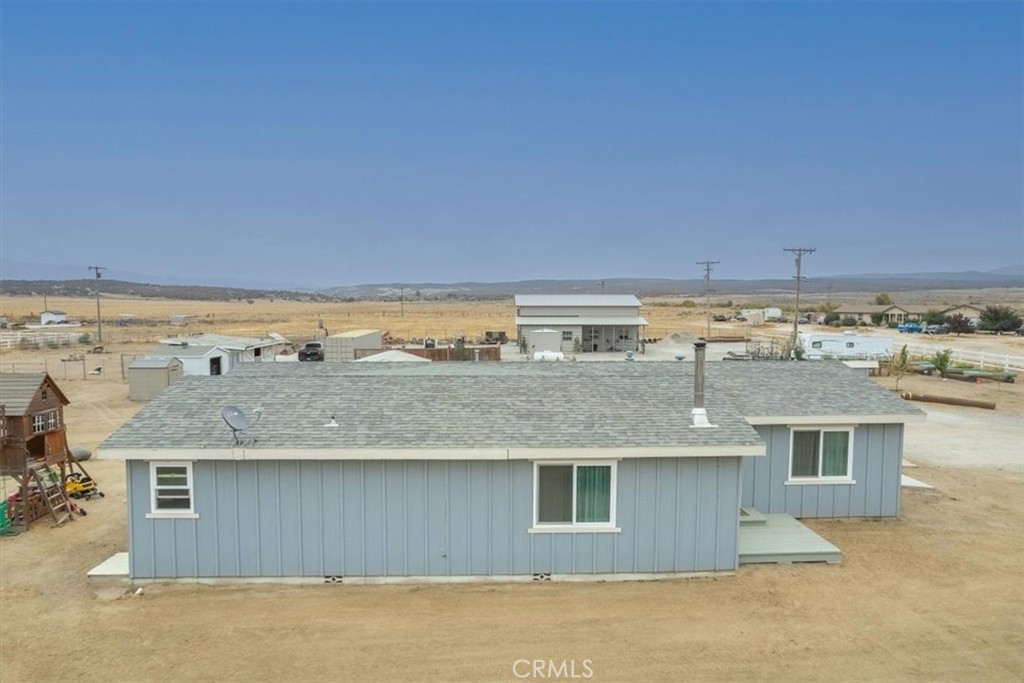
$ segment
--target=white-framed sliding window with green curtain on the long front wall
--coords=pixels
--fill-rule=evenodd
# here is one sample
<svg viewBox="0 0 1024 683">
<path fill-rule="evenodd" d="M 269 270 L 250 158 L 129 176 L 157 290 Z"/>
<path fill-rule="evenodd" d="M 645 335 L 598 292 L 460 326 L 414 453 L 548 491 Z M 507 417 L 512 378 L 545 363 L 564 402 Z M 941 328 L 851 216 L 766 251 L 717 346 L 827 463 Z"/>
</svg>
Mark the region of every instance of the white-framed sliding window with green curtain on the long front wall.
<svg viewBox="0 0 1024 683">
<path fill-rule="evenodd" d="M 615 463 L 535 463 L 531 530 L 618 530 Z"/>
</svg>

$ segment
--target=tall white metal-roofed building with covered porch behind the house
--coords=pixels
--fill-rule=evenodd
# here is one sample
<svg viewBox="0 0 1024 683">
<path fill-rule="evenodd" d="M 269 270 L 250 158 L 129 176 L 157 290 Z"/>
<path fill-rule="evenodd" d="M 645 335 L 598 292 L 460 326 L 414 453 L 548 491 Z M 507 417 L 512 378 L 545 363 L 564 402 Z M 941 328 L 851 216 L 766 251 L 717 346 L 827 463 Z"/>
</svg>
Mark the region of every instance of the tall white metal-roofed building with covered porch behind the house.
<svg viewBox="0 0 1024 683">
<path fill-rule="evenodd" d="M 530 333 L 554 330 L 561 335 L 561 348 L 548 350 L 636 351 L 647 326 L 640 315 L 642 306 L 631 294 L 517 294 L 519 348 L 532 352 Z"/>
</svg>

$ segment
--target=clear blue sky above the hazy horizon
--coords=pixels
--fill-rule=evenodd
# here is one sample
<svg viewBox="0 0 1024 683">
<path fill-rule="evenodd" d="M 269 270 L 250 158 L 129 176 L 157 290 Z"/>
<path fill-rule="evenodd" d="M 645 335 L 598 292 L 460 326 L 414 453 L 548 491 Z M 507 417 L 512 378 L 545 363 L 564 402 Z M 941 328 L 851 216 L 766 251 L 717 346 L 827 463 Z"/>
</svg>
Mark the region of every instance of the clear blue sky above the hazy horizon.
<svg viewBox="0 0 1024 683">
<path fill-rule="evenodd" d="M 305 286 L 1024 263 L 1020 3 L 0 12 L 7 259 Z"/>
</svg>

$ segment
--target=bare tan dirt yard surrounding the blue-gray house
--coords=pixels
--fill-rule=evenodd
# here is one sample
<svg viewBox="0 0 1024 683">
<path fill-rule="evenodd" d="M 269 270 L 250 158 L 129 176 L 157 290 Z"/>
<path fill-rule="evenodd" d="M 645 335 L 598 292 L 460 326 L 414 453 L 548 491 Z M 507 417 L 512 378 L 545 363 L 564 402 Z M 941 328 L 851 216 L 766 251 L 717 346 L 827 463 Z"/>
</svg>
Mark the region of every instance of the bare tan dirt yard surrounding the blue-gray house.
<svg viewBox="0 0 1024 683">
<path fill-rule="evenodd" d="M 0 364 L 47 353 L 59 364 L 67 351 Z M 72 400 L 72 443 L 95 447 L 140 408 L 120 377 L 51 373 Z M 126 544 L 123 466 L 89 461 L 106 497 L 87 516 L 0 539 L 0 681 L 540 680 L 516 675 L 520 659 L 574 661 L 575 680 L 593 681 L 1021 681 L 1024 384 L 913 376 L 900 388 L 996 410 L 921 403 L 929 420 L 907 428 L 906 473 L 935 488 L 904 489 L 898 519 L 810 522 L 841 564 L 713 580 L 133 596 L 85 578 Z"/>
</svg>

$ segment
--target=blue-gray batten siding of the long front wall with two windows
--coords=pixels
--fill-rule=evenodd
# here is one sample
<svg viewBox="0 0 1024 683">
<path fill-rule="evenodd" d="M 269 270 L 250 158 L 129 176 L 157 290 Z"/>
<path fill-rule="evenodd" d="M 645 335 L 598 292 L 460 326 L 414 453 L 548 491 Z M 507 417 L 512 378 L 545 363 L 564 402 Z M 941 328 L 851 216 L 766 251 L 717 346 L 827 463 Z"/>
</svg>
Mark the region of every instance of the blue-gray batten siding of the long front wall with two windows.
<svg viewBox="0 0 1024 683">
<path fill-rule="evenodd" d="M 617 466 L 618 532 L 529 533 L 528 461 L 200 461 L 196 519 L 150 519 L 129 461 L 133 579 L 731 571 L 740 459 Z"/>
</svg>

